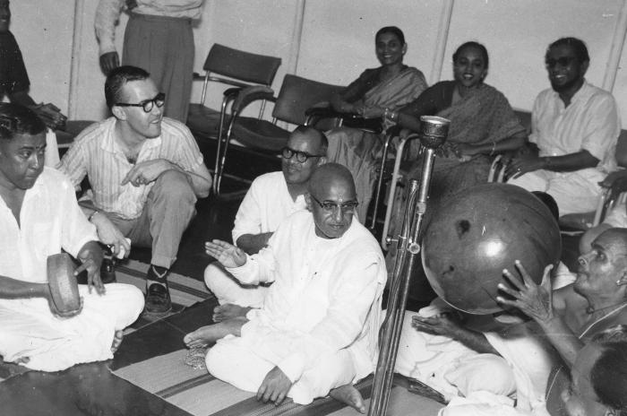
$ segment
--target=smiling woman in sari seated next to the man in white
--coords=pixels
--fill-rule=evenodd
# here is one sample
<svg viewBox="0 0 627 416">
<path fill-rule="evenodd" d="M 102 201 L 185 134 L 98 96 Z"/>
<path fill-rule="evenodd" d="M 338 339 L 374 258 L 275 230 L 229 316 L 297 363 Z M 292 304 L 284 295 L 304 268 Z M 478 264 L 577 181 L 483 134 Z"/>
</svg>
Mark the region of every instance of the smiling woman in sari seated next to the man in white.
<svg viewBox="0 0 627 416">
<path fill-rule="evenodd" d="M 388 113 L 392 121 L 413 131 L 419 131 L 421 116 L 451 120 L 447 141 L 434 162 L 432 203 L 485 182 L 494 154 L 525 143 L 527 133 L 508 100 L 484 83 L 488 63 L 483 45 L 466 42 L 453 54 L 454 81 L 438 82 L 399 112 Z M 420 159 L 409 178 L 418 178 L 421 169 Z"/>
</svg>

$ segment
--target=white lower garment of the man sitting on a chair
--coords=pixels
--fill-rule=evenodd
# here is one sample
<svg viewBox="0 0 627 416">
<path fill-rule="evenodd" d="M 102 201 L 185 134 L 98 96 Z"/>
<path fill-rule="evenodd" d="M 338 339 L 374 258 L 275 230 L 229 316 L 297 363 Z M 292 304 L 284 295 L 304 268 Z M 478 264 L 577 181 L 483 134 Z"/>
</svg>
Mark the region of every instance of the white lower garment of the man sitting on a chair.
<svg viewBox="0 0 627 416">
<path fill-rule="evenodd" d="M 574 172 L 535 170 L 510 179 L 507 183 L 523 187 L 529 192 L 541 191 L 553 196 L 560 215 L 566 215 L 595 211 L 602 192 L 598 183 L 604 178 L 597 169 Z"/>
</svg>

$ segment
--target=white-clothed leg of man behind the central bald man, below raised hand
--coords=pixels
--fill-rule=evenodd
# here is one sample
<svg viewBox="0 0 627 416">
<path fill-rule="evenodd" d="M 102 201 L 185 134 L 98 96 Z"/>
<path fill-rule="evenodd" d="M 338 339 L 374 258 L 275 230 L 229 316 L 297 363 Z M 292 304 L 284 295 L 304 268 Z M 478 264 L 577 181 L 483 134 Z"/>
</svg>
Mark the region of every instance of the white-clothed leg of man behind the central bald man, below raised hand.
<svg viewBox="0 0 627 416">
<path fill-rule="evenodd" d="M 268 288 L 257 285 L 244 285 L 218 262 L 204 269 L 204 282 L 216 295 L 220 305 L 233 303 L 241 307 L 262 308 Z"/>
</svg>

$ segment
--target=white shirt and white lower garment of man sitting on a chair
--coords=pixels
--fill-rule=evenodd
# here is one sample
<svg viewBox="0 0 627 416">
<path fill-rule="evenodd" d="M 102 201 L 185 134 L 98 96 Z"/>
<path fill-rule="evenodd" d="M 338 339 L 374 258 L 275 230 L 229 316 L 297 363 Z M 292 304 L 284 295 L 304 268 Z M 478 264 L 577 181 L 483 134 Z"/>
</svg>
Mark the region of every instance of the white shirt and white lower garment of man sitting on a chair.
<svg viewBox="0 0 627 416">
<path fill-rule="evenodd" d="M 588 151 L 599 162 L 595 168 L 573 172 L 536 170 L 508 181 L 528 191 L 552 195 L 560 214 L 589 212 L 597 208 L 598 182 L 616 169 L 614 152 L 621 121 L 612 94 L 584 82 L 564 107 L 552 89 L 540 92 L 532 113 L 529 141 L 537 143 L 540 156 L 563 156 Z"/>
</svg>

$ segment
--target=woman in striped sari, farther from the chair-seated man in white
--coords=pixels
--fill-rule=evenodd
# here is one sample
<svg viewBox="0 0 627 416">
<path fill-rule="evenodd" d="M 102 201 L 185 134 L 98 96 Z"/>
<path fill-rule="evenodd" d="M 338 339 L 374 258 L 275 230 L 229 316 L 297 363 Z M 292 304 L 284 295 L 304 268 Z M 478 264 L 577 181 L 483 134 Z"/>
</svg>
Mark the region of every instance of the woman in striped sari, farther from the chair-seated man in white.
<svg viewBox="0 0 627 416">
<path fill-rule="evenodd" d="M 331 100 L 331 106 L 341 113 L 352 113 L 364 118 L 381 119 L 385 130 L 393 123 L 383 115 L 398 110 L 425 91 L 426 82 L 417 68 L 404 65 L 407 51 L 405 35 L 396 26 L 377 31 L 375 52 L 381 63 L 378 68 L 366 69 Z M 357 217 L 365 221 L 374 188 L 375 158 L 382 149 L 382 134 L 374 134 L 352 127 L 338 127 L 327 132 L 329 151 L 327 159 L 348 167 L 356 181 L 359 197 Z"/>
</svg>

